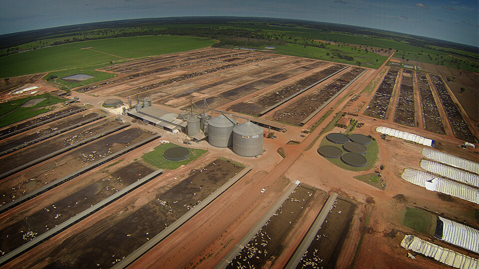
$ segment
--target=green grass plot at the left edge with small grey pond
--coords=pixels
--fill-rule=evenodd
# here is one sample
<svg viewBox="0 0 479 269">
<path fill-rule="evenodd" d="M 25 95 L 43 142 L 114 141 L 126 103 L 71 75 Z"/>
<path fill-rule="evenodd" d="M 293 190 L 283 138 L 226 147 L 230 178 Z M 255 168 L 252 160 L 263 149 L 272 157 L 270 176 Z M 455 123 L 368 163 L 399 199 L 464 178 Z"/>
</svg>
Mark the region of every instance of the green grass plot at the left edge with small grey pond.
<svg viewBox="0 0 479 269">
<path fill-rule="evenodd" d="M 30 108 L 21 108 L 30 99 L 46 98 L 40 103 Z M 26 120 L 28 118 L 43 114 L 51 109 L 46 108 L 48 106 L 64 102 L 66 99 L 52 96 L 48 93 L 30 96 L 27 98 L 12 100 L 0 104 L 0 128 L 17 123 L 19 121 Z"/>
</svg>

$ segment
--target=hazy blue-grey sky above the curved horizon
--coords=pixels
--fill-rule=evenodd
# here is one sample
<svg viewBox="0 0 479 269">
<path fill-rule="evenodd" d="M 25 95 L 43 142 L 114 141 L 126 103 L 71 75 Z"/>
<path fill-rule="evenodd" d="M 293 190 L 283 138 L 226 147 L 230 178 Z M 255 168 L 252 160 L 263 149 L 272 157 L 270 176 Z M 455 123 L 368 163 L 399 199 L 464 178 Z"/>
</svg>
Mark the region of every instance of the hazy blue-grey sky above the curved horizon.
<svg viewBox="0 0 479 269">
<path fill-rule="evenodd" d="M 478 0 L 0 0 L 0 34 L 169 16 L 258 16 L 335 22 L 478 46 Z"/>
</svg>

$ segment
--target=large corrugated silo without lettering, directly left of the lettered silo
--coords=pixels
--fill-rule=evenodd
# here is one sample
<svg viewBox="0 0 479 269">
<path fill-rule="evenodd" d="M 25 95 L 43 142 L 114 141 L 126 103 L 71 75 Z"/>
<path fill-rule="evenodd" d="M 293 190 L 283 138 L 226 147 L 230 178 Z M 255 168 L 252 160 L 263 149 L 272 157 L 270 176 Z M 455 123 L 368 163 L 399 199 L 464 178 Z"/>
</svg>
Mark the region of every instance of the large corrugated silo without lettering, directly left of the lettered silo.
<svg viewBox="0 0 479 269">
<path fill-rule="evenodd" d="M 221 114 L 208 121 L 208 142 L 217 147 L 233 145 L 233 128 L 236 120 Z"/>
</svg>

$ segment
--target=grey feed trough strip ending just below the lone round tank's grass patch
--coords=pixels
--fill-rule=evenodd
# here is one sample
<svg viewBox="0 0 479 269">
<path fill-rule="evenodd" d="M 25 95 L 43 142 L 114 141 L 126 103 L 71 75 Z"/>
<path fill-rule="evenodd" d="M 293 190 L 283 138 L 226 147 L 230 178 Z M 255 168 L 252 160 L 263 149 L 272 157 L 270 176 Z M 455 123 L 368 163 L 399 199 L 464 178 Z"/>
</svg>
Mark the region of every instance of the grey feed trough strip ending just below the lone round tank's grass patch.
<svg viewBox="0 0 479 269">
<path fill-rule="evenodd" d="M 121 191 L 118 191 L 117 193 L 115 193 L 115 194 L 111 195 L 110 197 L 106 198 L 105 200 L 91 206 L 90 208 L 81 212 L 80 214 L 78 214 L 78 215 L 70 218 L 69 220 L 63 222 L 62 224 L 48 230 L 47 232 L 39 235 L 38 237 L 35 237 L 34 239 L 29 241 L 28 243 L 23 244 L 21 247 L 16 248 L 15 250 L 7 253 L 6 255 L 1 256 L 0 257 L 0 265 L 3 265 L 4 263 L 6 263 L 9 260 L 17 257 L 20 254 L 26 252 L 27 250 L 33 248 L 34 246 L 43 243 L 44 241 L 48 240 L 52 236 L 60 233 L 61 231 L 65 230 L 66 228 L 68 228 L 68 227 L 74 225 L 75 223 L 83 220 L 84 218 L 86 218 L 89 215 L 97 212 L 98 210 L 102 209 L 103 207 L 111 204 L 115 200 L 117 200 L 117 199 L 121 198 L 122 196 L 124 196 L 125 194 L 133 191 L 134 189 L 136 189 L 139 186 L 143 185 L 144 183 L 150 181 L 151 179 L 155 178 L 156 176 L 158 176 L 161 173 L 163 173 L 163 169 L 158 169 L 158 170 L 150 173 L 149 175 L 147 175 L 147 176 L 143 177 L 142 179 L 134 182 L 130 186 L 122 189 Z"/>
</svg>

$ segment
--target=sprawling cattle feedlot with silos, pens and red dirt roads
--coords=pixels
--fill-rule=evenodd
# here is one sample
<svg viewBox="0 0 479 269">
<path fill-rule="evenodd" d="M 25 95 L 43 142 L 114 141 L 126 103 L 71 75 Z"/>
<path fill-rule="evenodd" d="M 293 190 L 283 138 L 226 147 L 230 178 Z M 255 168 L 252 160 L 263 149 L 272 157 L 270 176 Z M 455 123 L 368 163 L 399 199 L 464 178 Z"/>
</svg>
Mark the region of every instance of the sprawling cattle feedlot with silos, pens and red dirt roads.
<svg viewBox="0 0 479 269">
<path fill-rule="evenodd" d="M 478 119 L 447 79 L 271 50 L 2 92 L 60 101 L 0 129 L 0 266 L 479 268 Z"/>
</svg>

